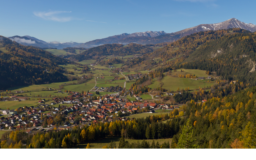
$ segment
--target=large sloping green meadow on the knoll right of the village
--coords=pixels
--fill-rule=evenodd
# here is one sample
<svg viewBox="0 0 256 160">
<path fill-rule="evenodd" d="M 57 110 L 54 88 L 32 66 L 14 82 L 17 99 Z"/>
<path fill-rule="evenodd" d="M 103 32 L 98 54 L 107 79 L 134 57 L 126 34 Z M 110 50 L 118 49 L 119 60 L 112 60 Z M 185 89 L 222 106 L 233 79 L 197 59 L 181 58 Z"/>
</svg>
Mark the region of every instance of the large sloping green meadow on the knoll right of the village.
<svg viewBox="0 0 256 160">
<path fill-rule="evenodd" d="M 181 89 L 185 89 L 187 87 L 189 87 L 190 90 L 195 90 L 199 89 L 199 87 L 204 88 L 213 85 L 213 83 L 207 83 L 204 81 L 194 80 L 190 78 L 165 76 L 161 80 L 161 82 L 154 81 L 151 85 L 148 85 L 148 87 L 156 89 L 157 87 L 161 87 L 161 83 L 163 83 L 162 88 L 168 89 L 169 91 L 177 91 L 178 87 L 181 91 Z"/>
</svg>

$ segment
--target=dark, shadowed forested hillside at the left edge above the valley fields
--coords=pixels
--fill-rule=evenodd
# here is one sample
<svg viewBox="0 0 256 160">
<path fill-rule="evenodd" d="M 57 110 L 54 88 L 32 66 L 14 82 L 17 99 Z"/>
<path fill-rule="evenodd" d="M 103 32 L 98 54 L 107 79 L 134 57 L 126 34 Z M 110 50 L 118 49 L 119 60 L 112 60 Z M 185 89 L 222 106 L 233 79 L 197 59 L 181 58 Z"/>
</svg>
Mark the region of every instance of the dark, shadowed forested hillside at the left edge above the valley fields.
<svg viewBox="0 0 256 160">
<path fill-rule="evenodd" d="M 58 64 L 71 63 L 51 53 L 1 37 L 0 90 L 7 87 L 67 80 Z"/>
</svg>

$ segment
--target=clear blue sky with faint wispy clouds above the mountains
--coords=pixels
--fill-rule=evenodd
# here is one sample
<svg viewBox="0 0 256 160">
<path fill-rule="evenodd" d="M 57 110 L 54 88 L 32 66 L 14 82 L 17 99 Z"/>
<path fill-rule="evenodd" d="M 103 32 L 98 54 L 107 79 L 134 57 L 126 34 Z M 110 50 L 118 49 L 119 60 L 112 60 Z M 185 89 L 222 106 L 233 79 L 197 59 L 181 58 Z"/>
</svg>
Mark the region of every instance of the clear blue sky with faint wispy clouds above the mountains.
<svg viewBox="0 0 256 160">
<path fill-rule="evenodd" d="M 1 1 L 0 35 L 79 42 L 122 33 L 177 32 L 236 18 L 256 24 L 256 1 Z"/>
</svg>

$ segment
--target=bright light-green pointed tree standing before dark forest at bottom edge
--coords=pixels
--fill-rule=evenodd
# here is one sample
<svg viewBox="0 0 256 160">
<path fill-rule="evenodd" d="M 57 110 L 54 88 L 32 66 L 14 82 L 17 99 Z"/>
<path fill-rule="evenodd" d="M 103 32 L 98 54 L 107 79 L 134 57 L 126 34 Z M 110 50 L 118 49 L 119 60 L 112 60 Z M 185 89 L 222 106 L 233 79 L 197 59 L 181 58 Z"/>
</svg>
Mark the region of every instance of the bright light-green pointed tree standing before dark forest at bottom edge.
<svg viewBox="0 0 256 160">
<path fill-rule="evenodd" d="M 198 148 L 193 139 L 193 129 L 189 119 L 187 124 L 181 130 L 177 148 Z"/>
</svg>

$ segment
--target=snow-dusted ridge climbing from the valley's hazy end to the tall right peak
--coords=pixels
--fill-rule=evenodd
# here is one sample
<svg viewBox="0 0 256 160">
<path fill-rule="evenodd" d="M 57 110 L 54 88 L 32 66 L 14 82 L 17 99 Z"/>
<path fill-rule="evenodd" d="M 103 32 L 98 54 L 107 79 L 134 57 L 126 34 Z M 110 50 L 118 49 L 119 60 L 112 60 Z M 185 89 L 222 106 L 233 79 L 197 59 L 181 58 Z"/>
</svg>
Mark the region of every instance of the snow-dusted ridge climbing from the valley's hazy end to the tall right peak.
<svg viewBox="0 0 256 160">
<path fill-rule="evenodd" d="M 147 32 L 137 32 L 132 34 L 123 33 L 120 35 L 110 36 L 107 38 L 86 42 L 76 47 L 90 48 L 90 47 L 96 47 L 96 46 L 100 46 L 103 44 L 110 44 L 110 43 L 120 43 L 120 44 L 138 43 L 143 45 L 158 44 L 163 42 L 174 42 L 184 36 L 187 36 L 196 32 L 208 31 L 208 30 L 221 30 L 221 29 L 229 29 L 229 28 L 242 28 L 245 30 L 249 30 L 251 32 L 256 31 L 255 24 L 244 23 L 238 19 L 232 18 L 220 23 L 200 24 L 198 26 L 187 28 L 174 33 L 166 33 L 164 31 L 159 31 L 159 32 L 147 31 Z M 150 36 L 148 36 L 148 34 L 150 34 Z"/>
</svg>

